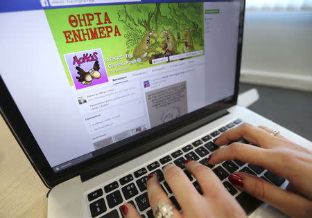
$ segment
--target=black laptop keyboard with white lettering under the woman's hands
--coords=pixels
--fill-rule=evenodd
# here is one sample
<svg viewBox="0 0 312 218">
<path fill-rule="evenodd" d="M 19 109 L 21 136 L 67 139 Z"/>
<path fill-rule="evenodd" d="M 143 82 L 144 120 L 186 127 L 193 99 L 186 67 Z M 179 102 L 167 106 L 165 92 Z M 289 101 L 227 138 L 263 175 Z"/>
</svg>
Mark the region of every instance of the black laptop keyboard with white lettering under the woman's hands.
<svg viewBox="0 0 312 218">
<path fill-rule="evenodd" d="M 243 163 L 239 160 L 225 161 L 218 165 L 210 165 L 207 163 L 207 157 L 209 154 L 214 153 L 219 147 L 214 145 L 213 138 L 216 138 L 222 132 L 227 131 L 232 127 L 241 125 L 242 120 L 234 120 L 230 122 L 225 127 L 221 127 L 216 131 L 212 131 L 207 136 L 200 139 L 194 140 L 193 143 L 182 147 L 182 149 L 177 149 L 170 155 L 163 156 L 148 165 L 141 167 L 139 170 L 132 172 L 126 176 L 123 176 L 116 181 L 103 185 L 103 188 L 99 188 L 93 192 L 87 194 L 87 202 L 89 204 L 89 215 L 96 218 L 119 218 L 122 217 L 121 210 L 119 207 L 123 203 L 132 203 L 135 208 L 139 211 L 142 217 L 153 217 L 153 211 L 150 208 L 148 202 L 148 194 L 146 192 L 146 181 L 148 174 L 156 174 L 162 189 L 166 194 L 168 194 L 169 199 L 173 202 L 178 210 L 180 210 L 180 205 L 177 203 L 171 188 L 168 183 L 164 181 L 164 174 L 162 173 L 162 168 L 168 163 L 173 163 L 177 165 L 184 173 L 187 175 L 189 180 L 193 183 L 194 187 L 200 194 L 202 190 L 198 181 L 187 171 L 184 167 L 184 162 L 186 159 L 193 159 L 199 161 L 202 165 L 210 167 L 218 178 L 223 182 L 225 188 L 232 194 L 235 199 L 241 204 L 243 209 L 247 214 L 250 214 L 258 206 L 261 205 L 262 201 L 255 199 L 250 194 L 241 192 L 241 190 L 236 189 L 234 185 L 229 183 L 227 176 L 233 172 L 246 172 L 259 178 L 266 180 L 274 185 L 281 186 L 286 180 L 273 174 L 272 172 L 264 169 L 261 166 Z M 243 140 L 243 143 L 248 143 Z M 250 144 L 250 143 L 248 143 Z M 250 144 L 251 145 L 251 144 Z"/>
</svg>

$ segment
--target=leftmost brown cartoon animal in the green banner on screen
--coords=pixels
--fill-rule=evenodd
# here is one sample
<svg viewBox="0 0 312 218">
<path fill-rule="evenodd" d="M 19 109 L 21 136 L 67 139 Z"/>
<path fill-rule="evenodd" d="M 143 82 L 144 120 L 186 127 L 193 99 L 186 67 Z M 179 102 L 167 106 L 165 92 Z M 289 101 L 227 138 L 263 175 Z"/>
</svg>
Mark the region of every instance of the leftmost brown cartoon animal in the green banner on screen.
<svg viewBox="0 0 312 218">
<path fill-rule="evenodd" d="M 150 46 L 150 39 L 158 39 L 158 34 L 154 30 L 151 30 L 150 32 L 146 33 L 146 35 L 144 35 L 139 44 L 135 46 L 135 49 L 133 50 L 133 56 L 131 58 L 127 57 L 127 60 L 131 61 L 140 58 L 141 62 L 146 62 L 149 58 L 148 53 L 155 51 L 155 48 Z M 127 54 L 128 53 L 129 51 L 127 51 Z"/>
</svg>

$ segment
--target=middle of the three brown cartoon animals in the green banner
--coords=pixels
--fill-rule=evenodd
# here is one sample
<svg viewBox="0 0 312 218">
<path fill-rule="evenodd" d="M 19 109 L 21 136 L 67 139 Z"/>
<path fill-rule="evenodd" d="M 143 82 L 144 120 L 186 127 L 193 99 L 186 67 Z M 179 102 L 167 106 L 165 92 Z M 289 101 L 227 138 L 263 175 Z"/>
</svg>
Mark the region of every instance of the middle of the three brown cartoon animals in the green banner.
<svg viewBox="0 0 312 218">
<path fill-rule="evenodd" d="M 177 55 L 177 40 L 170 30 L 162 30 L 159 37 L 164 39 L 159 46 L 165 51 L 165 56 Z"/>
</svg>

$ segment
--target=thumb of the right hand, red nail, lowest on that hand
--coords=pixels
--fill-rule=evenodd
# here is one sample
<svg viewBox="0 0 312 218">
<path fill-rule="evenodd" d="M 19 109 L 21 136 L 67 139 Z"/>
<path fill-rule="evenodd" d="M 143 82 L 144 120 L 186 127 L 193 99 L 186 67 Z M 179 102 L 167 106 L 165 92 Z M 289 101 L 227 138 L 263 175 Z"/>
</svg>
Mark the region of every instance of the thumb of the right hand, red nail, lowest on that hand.
<svg viewBox="0 0 312 218">
<path fill-rule="evenodd" d="M 275 206 L 291 217 L 309 217 L 312 214 L 312 201 L 282 190 L 256 176 L 237 172 L 229 175 L 229 181 L 244 192 Z"/>
</svg>

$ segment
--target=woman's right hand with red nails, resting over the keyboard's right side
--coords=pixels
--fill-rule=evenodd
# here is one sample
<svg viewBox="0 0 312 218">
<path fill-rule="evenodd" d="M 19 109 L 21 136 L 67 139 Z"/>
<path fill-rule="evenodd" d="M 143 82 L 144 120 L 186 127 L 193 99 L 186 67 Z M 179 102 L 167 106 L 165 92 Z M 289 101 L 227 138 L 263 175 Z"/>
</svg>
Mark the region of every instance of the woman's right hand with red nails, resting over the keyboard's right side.
<svg viewBox="0 0 312 218">
<path fill-rule="evenodd" d="M 259 165 L 288 179 L 287 190 L 272 185 L 256 176 L 235 172 L 229 181 L 241 190 L 252 194 L 285 212 L 291 217 L 312 216 L 312 152 L 280 134 L 273 136 L 267 127 L 243 124 L 221 134 L 214 142 L 226 145 L 244 138 L 254 145 L 232 143 L 218 149 L 209 157 L 210 164 L 238 159 Z"/>
</svg>

